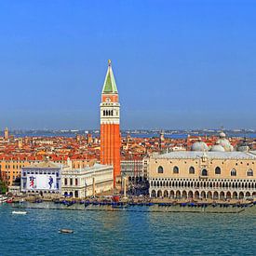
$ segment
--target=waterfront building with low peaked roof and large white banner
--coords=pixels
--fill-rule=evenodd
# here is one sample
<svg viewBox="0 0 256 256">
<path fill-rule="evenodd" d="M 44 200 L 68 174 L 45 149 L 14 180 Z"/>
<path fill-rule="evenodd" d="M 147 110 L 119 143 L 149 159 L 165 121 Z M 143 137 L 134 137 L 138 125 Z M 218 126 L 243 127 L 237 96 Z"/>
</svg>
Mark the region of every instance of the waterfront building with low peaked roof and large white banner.
<svg viewBox="0 0 256 256">
<path fill-rule="evenodd" d="M 26 194 L 61 194 L 61 165 L 47 159 L 21 168 L 20 191 Z"/>
</svg>

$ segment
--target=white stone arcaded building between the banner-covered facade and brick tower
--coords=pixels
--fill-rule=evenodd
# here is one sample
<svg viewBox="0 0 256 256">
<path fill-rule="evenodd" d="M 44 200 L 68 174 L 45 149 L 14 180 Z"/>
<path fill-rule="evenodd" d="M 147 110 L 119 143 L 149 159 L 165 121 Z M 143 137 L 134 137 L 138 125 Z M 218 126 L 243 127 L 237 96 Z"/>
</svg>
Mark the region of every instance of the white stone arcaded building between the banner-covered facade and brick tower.
<svg viewBox="0 0 256 256">
<path fill-rule="evenodd" d="M 61 195 L 87 197 L 113 189 L 113 166 L 94 164 L 84 168 L 62 168 Z"/>
</svg>

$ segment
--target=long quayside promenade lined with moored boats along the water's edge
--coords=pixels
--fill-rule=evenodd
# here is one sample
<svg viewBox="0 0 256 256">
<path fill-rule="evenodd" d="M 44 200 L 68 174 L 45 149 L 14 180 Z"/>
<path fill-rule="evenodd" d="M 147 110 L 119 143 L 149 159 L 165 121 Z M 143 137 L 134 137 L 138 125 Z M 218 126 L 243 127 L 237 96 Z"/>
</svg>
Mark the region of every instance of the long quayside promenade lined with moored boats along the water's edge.
<svg viewBox="0 0 256 256">
<path fill-rule="evenodd" d="M 122 198 L 115 196 L 99 196 L 84 199 L 74 198 L 40 198 L 30 196 L 21 201 L 14 199 L 9 205 L 18 209 L 68 209 L 68 210 L 128 210 L 151 212 L 209 212 L 209 213 L 239 213 L 256 208 L 253 200 L 170 200 L 151 199 L 149 197 L 133 196 Z"/>
</svg>

